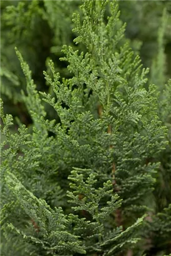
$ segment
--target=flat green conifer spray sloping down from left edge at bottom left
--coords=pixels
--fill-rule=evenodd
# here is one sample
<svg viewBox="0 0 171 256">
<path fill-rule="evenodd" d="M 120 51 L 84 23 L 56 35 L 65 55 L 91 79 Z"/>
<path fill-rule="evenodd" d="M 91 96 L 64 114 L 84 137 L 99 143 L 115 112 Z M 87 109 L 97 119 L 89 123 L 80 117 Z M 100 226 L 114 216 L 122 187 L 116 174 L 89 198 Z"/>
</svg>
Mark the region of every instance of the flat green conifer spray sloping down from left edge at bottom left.
<svg viewBox="0 0 171 256">
<path fill-rule="evenodd" d="M 27 223 L 30 226 L 27 232 L 17 229 L 12 224 L 7 224 L 7 232 L 15 232 L 27 243 L 33 245 L 31 252 L 27 252 L 28 254 L 40 255 L 40 250 L 41 255 L 67 255 L 74 254 L 74 252 L 85 254 L 78 237 L 67 232 L 67 226 L 70 224 L 62 213 L 61 207 L 52 210 L 46 201 L 37 199 L 10 173 L 6 175 L 6 182 L 12 193 L 16 195 L 19 206 L 36 223 L 33 227 Z M 40 233 L 40 235 L 32 236 L 33 232 L 28 232 L 31 228 L 35 229 L 34 233 Z"/>
</svg>

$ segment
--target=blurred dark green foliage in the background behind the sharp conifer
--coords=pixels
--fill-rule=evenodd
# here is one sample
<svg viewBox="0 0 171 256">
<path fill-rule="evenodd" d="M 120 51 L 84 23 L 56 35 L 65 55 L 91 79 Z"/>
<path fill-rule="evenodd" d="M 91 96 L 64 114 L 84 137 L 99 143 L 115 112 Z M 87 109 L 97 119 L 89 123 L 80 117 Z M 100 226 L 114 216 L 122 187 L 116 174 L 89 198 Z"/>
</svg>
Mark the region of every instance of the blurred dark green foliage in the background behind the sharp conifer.
<svg viewBox="0 0 171 256">
<path fill-rule="evenodd" d="M 171 1 L 170 0 L 120 0 L 120 19 L 127 23 L 125 37 L 142 59 L 145 67 L 150 67 L 149 84 L 159 88 L 159 116 L 168 127 L 167 149 L 160 155 L 160 172 L 154 190 L 155 213 L 162 212 L 171 203 Z M 81 0 L 2 0 L 1 15 L 1 98 L 4 112 L 17 117 L 27 127 L 32 126 L 26 106 L 22 102 L 21 91 L 26 92 L 26 81 L 17 59 L 14 47 L 21 52 L 29 64 L 32 78 L 38 91 L 52 89 L 44 79 L 43 71 L 49 72 L 47 62 L 54 61 L 61 77 L 70 77 L 67 63 L 59 61 L 62 46 L 71 45 L 85 51 L 82 45 L 75 45 L 72 32 L 72 14 L 80 12 Z M 106 13 L 107 16 L 107 13 Z M 49 72 L 50 74 L 50 72 Z M 148 88 L 147 88 L 148 89 Z M 47 117 L 57 119 L 56 113 L 46 106 Z M 17 121 L 16 121 L 17 127 Z M 153 159 L 150 159 L 152 161 Z M 162 220 L 163 221 L 163 220 Z M 161 224 L 162 225 L 162 224 Z M 163 255 L 165 241 L 151 230 L 152 240 L 148 255 Z M 171 244 L 171 241 L 167 241 Z M 156 254 L 157 252 L 157 254 Z"/>
</svg>

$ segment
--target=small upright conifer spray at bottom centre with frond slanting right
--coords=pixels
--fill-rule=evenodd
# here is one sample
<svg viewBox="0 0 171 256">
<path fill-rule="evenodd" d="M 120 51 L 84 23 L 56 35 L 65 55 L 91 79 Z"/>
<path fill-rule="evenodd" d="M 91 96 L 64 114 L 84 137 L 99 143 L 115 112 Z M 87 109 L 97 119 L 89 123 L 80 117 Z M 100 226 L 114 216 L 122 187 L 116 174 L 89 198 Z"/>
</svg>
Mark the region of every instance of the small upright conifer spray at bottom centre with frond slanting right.
<svg viewBox="0 0 171 256">
<path fill-rule="evenodd" d="M 84 181 L 84 177 L 87 174 L 89 176 Z M 69 180 L 72 180 L 70 187 L 74 192 L 67 192 L 67 196 L 71 198 L 68 202 L 77 205 L 72 207 L 72 209 L 88 212 L 94 221 L 92 223 L 87 222 L 86 225 L 82 225 L 81 221 L 81 230 L 86 232 L 86 234 L 89 234 L 87 229 L 92 229 L 91 235 L 89 234 L 88 236 L 88 241 L 85 242 L 86 251 L 89 252 L 90 250 L 90 252 L 103 252 L 103 255 L 114 255 L 122 250 L 122 247 L 130 247 L 131 244 L 139 240 L 135 238 L 135 232 L 139 225 L 142 224 L 144 218 L 138 219 L 134 225 L 130 226 L 124 232 L 122 228 L 114 229 L 112 232 L 106 232 L 106 221 L 109 219 L 110 214 L 120 208 L 122 200 L 119 200 L 117 194 L 112 195 L 113 189 L 110 180 L 104 182 L 103 187 L 95 189 L 95 184 L 97 184 L 95 177 L 96 175 L 90 169 L 72 170 Z M 102 207 L 102 198 L 109 196 L 111 198 L 106 202 L 107 206 Z M 78 231 L 80 227 L 77 227 Z M 85 239 L 84 233 L 82 234 L 82 238 Z M 99 239 L 99 243 L 95 243 L 95 239 L 97 238 Z"/>
</svg>

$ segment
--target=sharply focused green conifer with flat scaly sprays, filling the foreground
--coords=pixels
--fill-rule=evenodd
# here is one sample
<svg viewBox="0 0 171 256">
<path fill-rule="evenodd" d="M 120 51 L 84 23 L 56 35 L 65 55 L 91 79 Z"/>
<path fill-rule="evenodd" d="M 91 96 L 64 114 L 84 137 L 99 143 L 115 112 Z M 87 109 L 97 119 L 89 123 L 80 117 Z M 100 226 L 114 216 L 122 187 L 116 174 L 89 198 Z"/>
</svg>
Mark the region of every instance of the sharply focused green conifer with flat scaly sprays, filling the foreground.
<svg viewBox="0 0 171 256">
<path fill-rule="evenodd" d="M 171 83 L 161 120 L 157 88 L 145 89 L 149 69 L 124 37 L 117 3 L 84 0 L 81 11 L 73 15 L 74 42 L 86 53 L 63 46 L 71 78 L 60 77 L 49 61 L 51 74 L 44 76 L 54 97 L 37 92 L 16 49 L 33 128 L 29 133 L 20 123 L 12 134 L 1 101 L 1 254 L 142 256 L 157 228 L 169 254 L 170 206 L 147 220 L 168 144 Z M 47 119 L 44 102 L 59 122 Z"/>
</svg>

